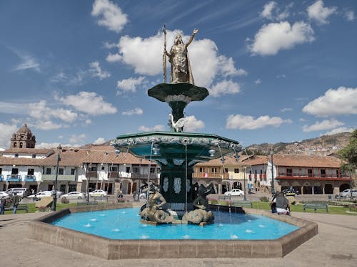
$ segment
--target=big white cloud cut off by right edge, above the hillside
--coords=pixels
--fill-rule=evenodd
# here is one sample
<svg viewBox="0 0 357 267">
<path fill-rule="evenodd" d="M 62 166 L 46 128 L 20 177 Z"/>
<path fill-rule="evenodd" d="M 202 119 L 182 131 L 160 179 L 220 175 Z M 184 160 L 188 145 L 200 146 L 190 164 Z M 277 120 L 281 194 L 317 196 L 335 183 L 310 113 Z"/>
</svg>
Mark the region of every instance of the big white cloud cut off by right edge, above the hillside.
<svg viewBox="0 0 357 267">
<path fill-rule="evenodd" d="M 328 89 L 324 95 L 303 107 L 303 112 L 316 116 L 357 114 L 357 88 Z"/>
</svg>

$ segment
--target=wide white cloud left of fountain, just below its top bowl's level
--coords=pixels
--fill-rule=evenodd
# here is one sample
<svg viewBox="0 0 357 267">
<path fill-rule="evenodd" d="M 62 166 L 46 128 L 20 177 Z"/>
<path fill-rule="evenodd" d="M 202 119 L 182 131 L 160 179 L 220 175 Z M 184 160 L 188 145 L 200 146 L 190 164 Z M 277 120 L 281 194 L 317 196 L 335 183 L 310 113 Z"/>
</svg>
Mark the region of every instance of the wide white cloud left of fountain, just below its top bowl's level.
<svg viewBox="0 0 357 267">
<path fill-rule="evenodd" d="M 89 115 L 116 113 L 116 108 L 111 103 L 106 103 L 101 95 L 97 95 L 94 92 L 81 91 L 77 95 L 67 95 L 64 98 L 59 98 L 59 101 Z"/>
</svg>

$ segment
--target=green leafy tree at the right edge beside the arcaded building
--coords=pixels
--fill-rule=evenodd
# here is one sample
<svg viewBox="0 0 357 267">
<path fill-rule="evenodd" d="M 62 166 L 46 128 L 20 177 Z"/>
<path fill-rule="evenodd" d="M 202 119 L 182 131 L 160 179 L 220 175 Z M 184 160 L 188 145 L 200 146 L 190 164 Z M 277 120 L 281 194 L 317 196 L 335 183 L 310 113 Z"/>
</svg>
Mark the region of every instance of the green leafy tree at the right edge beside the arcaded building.
<svg viewBox="0 0 357 267">
<path fill-rule="evenodd" d="M 356 169 L 357 169 L 357 129 L 353 130 L 350 136 L 350 140 L 348 142 L 347 147 L 338 151 L 338 155 L 340 155 L 341 162 L 341 170 L 342 172 L 350 173 L 351 177 L 355 181 L 356 184 Z M 353 184 L 351 184 L 353 185 Z"/>
</svg>

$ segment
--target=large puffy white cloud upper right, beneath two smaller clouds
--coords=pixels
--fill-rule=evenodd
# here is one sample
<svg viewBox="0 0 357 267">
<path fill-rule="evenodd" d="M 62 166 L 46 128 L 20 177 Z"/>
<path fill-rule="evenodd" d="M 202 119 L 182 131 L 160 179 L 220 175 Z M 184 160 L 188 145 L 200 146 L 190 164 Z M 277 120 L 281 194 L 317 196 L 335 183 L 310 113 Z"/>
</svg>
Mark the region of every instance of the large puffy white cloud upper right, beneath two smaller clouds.
<svg viewBox="0 0 357 267">
<path fill-rule="evenodd" d="M 253 55 L 270 56 L 276 55 L 280 50 L 313 40 L 313 29 L 310 24 L 298 21 L 291 26 L 288 21 L 282 21 L 263 25 L 248 48 Z"/>
</svg>

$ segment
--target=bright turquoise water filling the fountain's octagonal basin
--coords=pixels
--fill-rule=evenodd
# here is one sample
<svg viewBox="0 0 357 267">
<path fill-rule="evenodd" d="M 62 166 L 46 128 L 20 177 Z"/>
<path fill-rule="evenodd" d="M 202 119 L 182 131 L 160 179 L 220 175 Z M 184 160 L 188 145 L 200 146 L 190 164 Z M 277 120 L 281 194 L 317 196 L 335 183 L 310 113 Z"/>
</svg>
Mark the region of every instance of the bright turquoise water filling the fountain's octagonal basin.
<svg viewBox="0 0 357 267">
<path fill-rule="evenodd" d="M 278 239 L 298 226 L 266 216 L 214 211 L 215 223 L 207 226 L 141 224 L 138 208 L 110 209 L 69 214 L 52 224 L 108 239 Z"/>
</svg>

